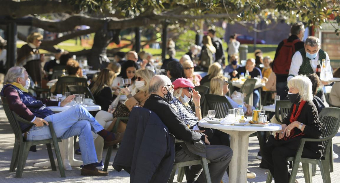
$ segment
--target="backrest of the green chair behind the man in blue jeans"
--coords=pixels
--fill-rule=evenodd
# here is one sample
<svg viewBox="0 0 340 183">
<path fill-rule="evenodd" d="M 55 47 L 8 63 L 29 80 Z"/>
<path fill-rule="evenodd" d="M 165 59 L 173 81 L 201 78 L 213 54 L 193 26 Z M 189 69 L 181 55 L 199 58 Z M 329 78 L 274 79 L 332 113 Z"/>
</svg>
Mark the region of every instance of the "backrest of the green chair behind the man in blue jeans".
<svg viewBox="0 0 340 183">
<path fill-rule="evenodd" d="M 3 109 L 5 110 L 5 114 L 8 119 L 8 122 L 10 122 L 15 138 L 20 140 L 20 142 L 22 142 L 23 138 L 22 138 L 22 131 L 20 128 L 20 124 L 18 123 L 18 121 L 16 120 L 14 116 L 16 114 L 8 106 L 8 101 L 6 97 L 1 96 L 1 100 L 2 100 Z"/>
</svg>

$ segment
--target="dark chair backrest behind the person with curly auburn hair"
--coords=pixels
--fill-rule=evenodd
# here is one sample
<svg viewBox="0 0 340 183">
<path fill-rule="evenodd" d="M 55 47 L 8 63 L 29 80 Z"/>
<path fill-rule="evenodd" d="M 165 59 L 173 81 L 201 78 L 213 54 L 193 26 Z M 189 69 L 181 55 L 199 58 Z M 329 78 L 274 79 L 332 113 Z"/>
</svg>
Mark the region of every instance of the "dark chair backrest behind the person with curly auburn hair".
<svg viewBox="0 0 340 183">
<path fill-rule="evenodd" d="M 87 80 L 85 78 L 77 78 L 77 77 L 61 77 L 58 79 L 55 87 L 54 94 L 64 94 L 68 91 L 68 85 L 78 85 L 78 86 L 86 86 Z"/>
</svg>

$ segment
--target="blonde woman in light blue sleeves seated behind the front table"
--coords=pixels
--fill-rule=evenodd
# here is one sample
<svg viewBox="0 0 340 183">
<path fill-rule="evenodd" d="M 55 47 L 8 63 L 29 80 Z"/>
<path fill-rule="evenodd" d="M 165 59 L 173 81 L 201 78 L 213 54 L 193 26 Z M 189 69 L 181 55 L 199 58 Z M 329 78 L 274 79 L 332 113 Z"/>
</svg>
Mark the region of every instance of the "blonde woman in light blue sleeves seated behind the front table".
<svg viewBox="0 0 340 183">
<path fill-rule="evenodd" d="M 216 76 L 211 79 L 210 94 L 225 96 L 228 99 L 228 102 L 233 106 L 233 108 L 238 108 L 239 104 L 236 103 L 229 96 L 226 96 L 228 91 L 229 91 L 228 82 L 225 80 L 223 76 Z M 243 106 L 243 113 L 245 115 L 251 115 L 253 113 L 253 109 L 255 109 L 255 107 L 249 104 L 246 104 L 245 102 L 243 102 L 242 106 Z"/>
</svg>

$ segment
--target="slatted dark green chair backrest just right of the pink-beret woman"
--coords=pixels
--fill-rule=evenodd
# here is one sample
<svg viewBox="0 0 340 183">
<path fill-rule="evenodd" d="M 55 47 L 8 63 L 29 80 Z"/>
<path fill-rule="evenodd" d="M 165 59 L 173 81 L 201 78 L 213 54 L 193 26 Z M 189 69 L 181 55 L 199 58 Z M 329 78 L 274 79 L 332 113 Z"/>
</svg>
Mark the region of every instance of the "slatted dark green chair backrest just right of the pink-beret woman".
<svg viewBox="0 0 340 183">
<path fill-rule="evenodd" d="M 215 118 L 225 118 L 228 115 L 228 109 L 233 108 L 225 96 L 206 94 L 205 100 L 208 103 L 209 110 L 215 110 Z"/>
</svg>

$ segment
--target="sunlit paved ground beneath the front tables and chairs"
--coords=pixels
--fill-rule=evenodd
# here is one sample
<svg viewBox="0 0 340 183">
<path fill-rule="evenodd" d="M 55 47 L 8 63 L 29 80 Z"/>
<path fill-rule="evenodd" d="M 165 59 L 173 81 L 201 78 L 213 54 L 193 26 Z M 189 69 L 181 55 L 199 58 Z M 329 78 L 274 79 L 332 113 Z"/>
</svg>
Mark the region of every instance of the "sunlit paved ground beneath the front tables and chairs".
<svg viewBox="0 0 340 183">
<path fill-rule="evenodd" d="M 334 138 L 334 151 L 337 154 L 340 154 L 340 130 L 338 131 L 337 136 Z M 117 172 L 111 166 L 114 156 L 116 154 L 116 150 L 114 150 L 113 155 L 111 157 L 111 163 L 109 165 L 109 175 L 106 177 L 86 177 L 80 175 L 80 168 L 73 167 L 73 170 L 66 171 L 66 178 L 61 178 L 59 170 L 52 171 L 50 168 L 43 167 L 33 167 L 34 163 L 47 161 L 48 154 L 46 150 L 46 146 L 40 145 L 37 146 L 37 152 L 30 152 L 26 166 L 24 168 L 22 178 L 15 178 L 15 172 L 10 173 L 10 163 L 12 158 L 12 150 L 14 145 L 14 134 L 12 133 L 12 129 L 6 119 L 6 115 L 2 106 L 0 106 L 0 183 L 54 183 L 54 182 L 67 182 L 67 183 L 129 183 L 130 175 L 126 171 Z M 260 160 L 257 160 L 255 157 L 257 152 L 259 151 L 258 140 L 256 137 L 251 137 L 249 139 L 249 162 L 248 167 L 250 171 L 256 173 L 255 179 L 248 179 L 252 182 L 260 182 L 265 183 L 267 178 L 267 170 L 263 168 L 259 168 Z M 103 157 L 106 156 L 106 149 L 104 149 Z M 81 159 L 81 156 L 75 155 L 75 158 Z M 340 158 L 334 160 L 334 170 L 335 172 L 331 173 L 331 180 L 334 183 L 340 182 Z M 175 177 L 176 180 L 176 177 Z M 300 183 L 304 183 L 304 177 L 302 169 L 299 169 L 297 174 L 297 180 Z M 183 180 L 185 182 L 185 178 Z M 228 182 L 227 174 L 223 177 L 223 182 Z M 274 182 L 274 181 L 272 181 Z M 317 169 L 316 176 L 313 177 L 314 183 L 321 183 L 322 177 L 320 174 L 320 169 Z"/>
</svg>

